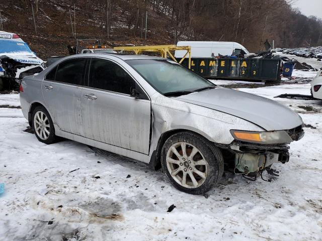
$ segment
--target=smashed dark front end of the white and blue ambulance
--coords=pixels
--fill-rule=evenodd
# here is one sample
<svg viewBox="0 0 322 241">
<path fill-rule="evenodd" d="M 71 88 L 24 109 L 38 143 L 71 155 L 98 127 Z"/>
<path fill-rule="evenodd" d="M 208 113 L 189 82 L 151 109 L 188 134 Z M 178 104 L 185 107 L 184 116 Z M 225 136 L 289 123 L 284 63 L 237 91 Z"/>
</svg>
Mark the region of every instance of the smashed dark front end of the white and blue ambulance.
<svg viewBox="0 0 322 241">
<path fill-rule="evenodd" d="M 19 58 L 19 57 L 18 57 Z M 45 64 L 19 61 L 6 55 L 0 56 L 0 90 L 18 90 L 20 81 L 29 75 L 40 73 Z"/>
</svg>

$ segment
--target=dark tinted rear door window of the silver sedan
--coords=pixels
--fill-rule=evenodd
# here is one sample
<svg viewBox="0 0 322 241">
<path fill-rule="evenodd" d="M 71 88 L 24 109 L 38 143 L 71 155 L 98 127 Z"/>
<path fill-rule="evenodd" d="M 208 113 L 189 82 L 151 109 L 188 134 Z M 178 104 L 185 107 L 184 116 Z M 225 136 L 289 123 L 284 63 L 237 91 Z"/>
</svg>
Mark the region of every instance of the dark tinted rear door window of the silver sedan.
<svg viewBox="0 0 322 241">
<path fill-rule="evenodd" d="M 86 58 L 68 59 L 58 65 L 55 81 L 84 85 Z"/>
</svg>

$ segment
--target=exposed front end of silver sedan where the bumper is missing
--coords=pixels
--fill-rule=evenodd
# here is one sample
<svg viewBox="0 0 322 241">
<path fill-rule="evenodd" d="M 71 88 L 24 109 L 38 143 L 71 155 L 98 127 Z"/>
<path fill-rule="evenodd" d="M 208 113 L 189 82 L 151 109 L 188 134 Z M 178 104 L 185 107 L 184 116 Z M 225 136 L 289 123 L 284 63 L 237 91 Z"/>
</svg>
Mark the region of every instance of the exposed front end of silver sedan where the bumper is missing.
<svg viewBox="0 0 322 241">
<path fill-rule="evenodd" d="M 283 133 L 277 135 L 277 132 Z M 254 134 L 253 132 L 243 133 L 251 133 L 252 135 Z M 291 130 L 276 131 L 273 133 L 276 137 L 281 138 L 280 143 L 273 143 L 278 142 L 278 140 L 274 140 L 274 137 L 266 137 L 266 140 L 264 140 L 264 138 L 263 140 L 260 140 L 260 137 L 257 138 L 257 136 L 254 135 L 245 135 L 243 137 L 242 135 L 236 135 L 236 132 L 232 133 L 235 140 L 230 145 L 228 145 L 228 152 L 230 153 L 230 155 L 224 155 L 224 158 L 226 159 L 225 163 L 229 165 L 230 168 L 233 168 L 233 172 L 235 174 L 241 174 L 246 179 L 252 181 L 255 181 L 259 174 L 261 174 L 262 176 L 262 172 L 264 170 L 267 170 L 269 173 L 276 175 L 271 169 L 272 164 L 279 162 L 285 164 L 289 161 L 288 145 L 292 141 L 300 140 L 304 136 L 304 131 L 302 129 L 302 126 L 299 126 Z M 252 140 L 245 141 L 241 140 L 240 137 L 244 139 L 249 138 Z"/>
</svg>

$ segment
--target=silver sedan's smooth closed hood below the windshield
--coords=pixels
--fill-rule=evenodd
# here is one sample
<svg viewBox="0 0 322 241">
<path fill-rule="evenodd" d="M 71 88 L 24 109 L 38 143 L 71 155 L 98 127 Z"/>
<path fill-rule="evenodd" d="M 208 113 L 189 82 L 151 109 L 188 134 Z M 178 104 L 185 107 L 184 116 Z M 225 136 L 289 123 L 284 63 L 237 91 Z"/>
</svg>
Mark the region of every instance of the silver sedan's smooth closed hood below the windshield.
<svg viewBox="0 0 322 241">
<path fill-rule="evenodd" d="M 266 131 L 289 130 L 303 123 L 296 112 L 283 104 L 223 87 L 173 98 L 246 119 Z"/>
</svg>

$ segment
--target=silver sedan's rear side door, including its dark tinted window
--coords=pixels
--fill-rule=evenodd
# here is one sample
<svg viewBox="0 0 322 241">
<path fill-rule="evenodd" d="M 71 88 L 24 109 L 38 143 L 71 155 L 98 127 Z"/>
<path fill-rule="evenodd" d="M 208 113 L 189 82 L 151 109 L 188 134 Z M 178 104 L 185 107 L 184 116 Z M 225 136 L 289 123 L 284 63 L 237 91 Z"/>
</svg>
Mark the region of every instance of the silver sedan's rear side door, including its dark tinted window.
<svg viewBox="0 0 322 241">
<path fill-rule="evenodd" d="M 81 136 L 81 92 L 87 60 L 65 60 L 53 68 L 42 82 L 42 93 L 53 122 L 62 131 Z"/>
</svg>

